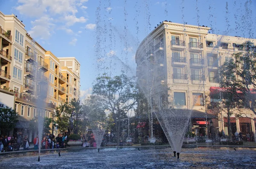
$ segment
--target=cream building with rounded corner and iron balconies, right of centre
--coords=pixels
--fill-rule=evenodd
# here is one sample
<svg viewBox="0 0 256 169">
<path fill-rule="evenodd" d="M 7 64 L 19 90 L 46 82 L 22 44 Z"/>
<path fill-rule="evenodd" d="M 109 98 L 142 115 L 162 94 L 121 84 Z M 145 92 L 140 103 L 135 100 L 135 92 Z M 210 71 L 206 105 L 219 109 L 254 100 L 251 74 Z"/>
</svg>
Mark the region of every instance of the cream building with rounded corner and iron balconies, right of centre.
<svg viewBox="0 0 256 169">
<path fill-rule="evenodd" d="M 196 134 L 205 130 L 208 120 L 213 121 L 214 132 L 224 130 L 227 134 L 227 114 L 216 109 L 218 100 L 209 95 L 219 87 L 218 67 L 232 59 L 232 54 L 243 51 L 243 42 L 256 44 L 256 39 L 209 34 L 209 30 L 162 22 L 137 49 L 137 82 L 153 108 L 192 110 L 192 131 Z M 234 114 L 232 131 L 255 134 L 256 116 L 247 109 L 240 111 L 250 118 L 236 118 Z"/>
</svg>

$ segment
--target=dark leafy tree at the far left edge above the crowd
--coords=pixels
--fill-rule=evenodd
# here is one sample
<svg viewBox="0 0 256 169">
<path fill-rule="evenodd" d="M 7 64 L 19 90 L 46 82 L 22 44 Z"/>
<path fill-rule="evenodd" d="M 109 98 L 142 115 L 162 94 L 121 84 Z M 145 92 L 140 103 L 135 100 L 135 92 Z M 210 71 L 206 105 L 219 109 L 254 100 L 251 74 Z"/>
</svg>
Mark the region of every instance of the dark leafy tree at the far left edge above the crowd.
<svg viewBox="0 0 256 169">
<path fill-rule="evenodd" d="M 18 115 L 15 110 L 9 107 L 0 108 L 0 130 L 6 133 L 12 130 L 18 121 Z"/>
</svg>

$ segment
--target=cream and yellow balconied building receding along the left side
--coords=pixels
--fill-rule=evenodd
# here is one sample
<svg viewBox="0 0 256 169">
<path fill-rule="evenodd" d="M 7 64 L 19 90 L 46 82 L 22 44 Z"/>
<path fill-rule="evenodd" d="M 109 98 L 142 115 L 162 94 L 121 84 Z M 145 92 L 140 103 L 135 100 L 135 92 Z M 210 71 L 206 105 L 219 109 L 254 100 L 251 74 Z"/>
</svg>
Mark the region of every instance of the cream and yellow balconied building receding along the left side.
<svg viewBox="0 0 256 169">
<path fill-rule="evenodd" d="M 38 132 L 32 128 L 32 119 L 39 114 L 52 118 L 57 106 L 79 99 L 80 63 L 74 57 L 61 60 L 62 65 L 26 33 L 17 16 L 0 12 L 0 104 L 12 107 L 19 115 L 10 134 L 21 131 L 32 141 Z"/>
</svg>

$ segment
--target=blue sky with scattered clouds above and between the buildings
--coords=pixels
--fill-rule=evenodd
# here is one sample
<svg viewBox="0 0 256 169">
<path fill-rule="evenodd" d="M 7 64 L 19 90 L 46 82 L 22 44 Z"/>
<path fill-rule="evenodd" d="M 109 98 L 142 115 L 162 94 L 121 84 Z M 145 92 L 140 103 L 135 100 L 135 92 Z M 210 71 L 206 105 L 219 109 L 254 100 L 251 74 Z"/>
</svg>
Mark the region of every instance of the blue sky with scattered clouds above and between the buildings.
<svg viewBox="0 0 256 169">
<path fill-rule="evenodd" d="M 136 75 L 140 42 L 163 20 L 256 38 L 256 0 L 0 0 L 26 31 L 57 57 L 81 64 L 81 98 L 102 73 Z"/>
</svg>

